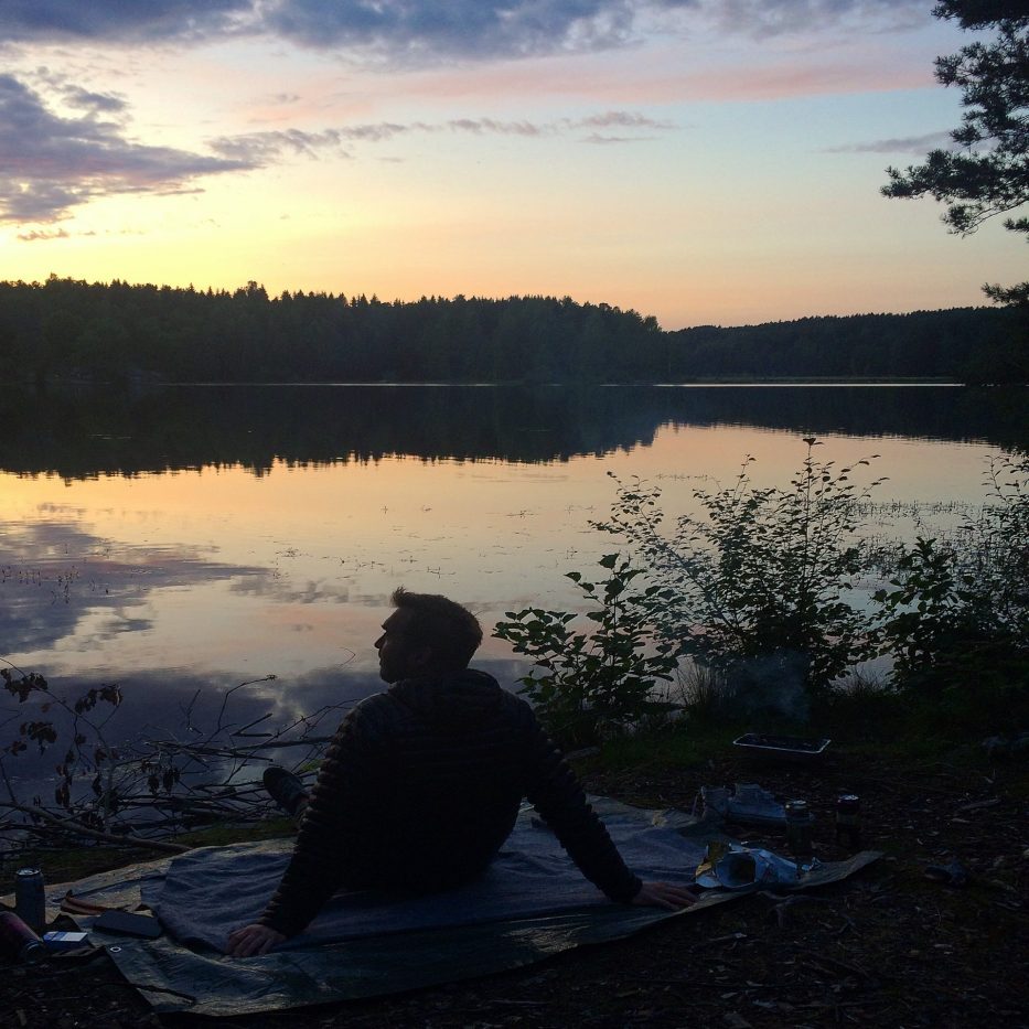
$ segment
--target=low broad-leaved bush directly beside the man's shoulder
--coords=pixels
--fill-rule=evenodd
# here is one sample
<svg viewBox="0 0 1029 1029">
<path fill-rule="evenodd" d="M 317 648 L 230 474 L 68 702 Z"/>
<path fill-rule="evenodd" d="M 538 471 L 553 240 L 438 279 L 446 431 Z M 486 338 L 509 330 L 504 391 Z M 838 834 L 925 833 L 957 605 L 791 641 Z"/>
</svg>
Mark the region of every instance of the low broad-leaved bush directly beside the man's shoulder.
<svg viewBox="0 0 1029 1029">
<path fill-rule="evenodd" d="M 651 621 L 654 607 L 669 601 L 671 592 L 657 586 L 635 592 L 632 585 L 642 571 L 618 554 L 599 564 L 609 572 L 600 582 L 567 574 L 593 604 L 581 617 L 593 622 L 591 631 L 577 628 L 580 615 L 542 608 L 505 612 L 510 621 L 497 622 L 493 631 L 534 660 L 519 679 L 522 693 L 569 748 L 596 743 L 652 714 L 660 706 L 652 695 L 655 680 L 669 679 L 676 667 L 676 649 L 656 636 Z"/>
</svg>

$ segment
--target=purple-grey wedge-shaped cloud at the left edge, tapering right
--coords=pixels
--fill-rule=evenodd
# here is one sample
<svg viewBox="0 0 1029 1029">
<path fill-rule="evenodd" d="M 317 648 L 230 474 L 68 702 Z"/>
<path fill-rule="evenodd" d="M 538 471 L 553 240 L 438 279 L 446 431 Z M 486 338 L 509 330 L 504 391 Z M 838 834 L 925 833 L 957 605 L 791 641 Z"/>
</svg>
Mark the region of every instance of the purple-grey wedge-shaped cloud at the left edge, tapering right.
<svg viewBox="0 0 1029 1029">
<path fill-rule="evenodd" d="M 0 75 L 0 222 L 53 222 L 96 196 L 168 192 L 201 175 L 254 167 L 132 142 L 122 126 L 98 117 L 103 101 L 117 98 L 76 96 L 87 114 L 63 118 L 13 75 Z"/>
</svg>

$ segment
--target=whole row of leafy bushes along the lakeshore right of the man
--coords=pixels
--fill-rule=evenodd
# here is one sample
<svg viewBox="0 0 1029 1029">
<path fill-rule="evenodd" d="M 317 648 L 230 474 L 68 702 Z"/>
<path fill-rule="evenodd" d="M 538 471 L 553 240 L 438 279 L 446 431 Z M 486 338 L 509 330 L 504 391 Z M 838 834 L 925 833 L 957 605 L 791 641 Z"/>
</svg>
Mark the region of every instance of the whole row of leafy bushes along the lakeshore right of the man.
<svg viewBox="0 0 1029 1029">
<path fill-rule="evenodd" d="M 534 658 L 523 692 L 562 742 L 641 723 L 672 674 L 692 717 L 746 716 L 769 730 L 804 720 L 810 701 L 823 720 L 900 733 L 1029 718 L 1029 458 L 990 463 L 988 502 L 956 534 L 888 548 L 892 577 L 869 611 L 845 591 L 887 553 L 861 537 L 882 480 L 857 485 L 871 459 L 837 468 L 804 442 L 787 486 L 755 486 L 748 458 L 730 486 L 695 490 L 700 514 L 669 530 L 658 489 L 615 480 L 610 517 L 592 524 L 628 540 L 632 558 L 604 557 L 600 583 L 568 574 L 597 604 L 586 615 L 596 630 L 539 608 L 497 624 L 494 635 Z M 860 679 L 876 654 L 893 662 L 886 687 Z"/>
</svg>

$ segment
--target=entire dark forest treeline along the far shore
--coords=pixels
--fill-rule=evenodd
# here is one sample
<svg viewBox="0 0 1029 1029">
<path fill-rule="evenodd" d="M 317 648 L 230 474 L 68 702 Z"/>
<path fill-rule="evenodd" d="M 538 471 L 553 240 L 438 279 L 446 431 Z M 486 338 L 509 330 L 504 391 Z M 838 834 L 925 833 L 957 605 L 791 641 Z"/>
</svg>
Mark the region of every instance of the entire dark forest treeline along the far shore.
<svg viewBox="0 0 1029 1029">
<path fill-rule="evenodd" d="M 664 332 L 568 297 L 373 297 L 0 282 L 0 376 L 46 383 L 1029 380 L 1026 312 L 960 308 Z"/>
</svg>

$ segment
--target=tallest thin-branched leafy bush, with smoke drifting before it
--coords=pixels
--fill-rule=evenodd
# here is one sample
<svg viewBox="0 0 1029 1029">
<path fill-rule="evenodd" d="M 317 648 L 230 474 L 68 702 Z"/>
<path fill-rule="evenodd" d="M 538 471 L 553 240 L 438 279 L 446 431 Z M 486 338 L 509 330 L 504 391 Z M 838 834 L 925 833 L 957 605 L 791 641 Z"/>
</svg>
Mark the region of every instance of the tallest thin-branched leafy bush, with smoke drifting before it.
<svg viewBox="0 0 1029 1029">
<path fill-rule="evenodd" d="M 850 475 L 869 460 L 837 469 L 815 459 L 817 440 L 804 442 L 786 487 L 754 485 L 748 457 L 730 486 L 695 490 L 701 516 L 683 515 L 668 533 L 661 491 L 640 480 L 619 481 L 611 517 L 597 523 L 628 539 L 660 583 L 665 599 L 647 601 L 660 636 L 744 692 L 772 684 L 810 696 L 876 650 L 843 592 L 864 570 L 859 505 L 882 480 L 858 487 Z"/>
</svg>

